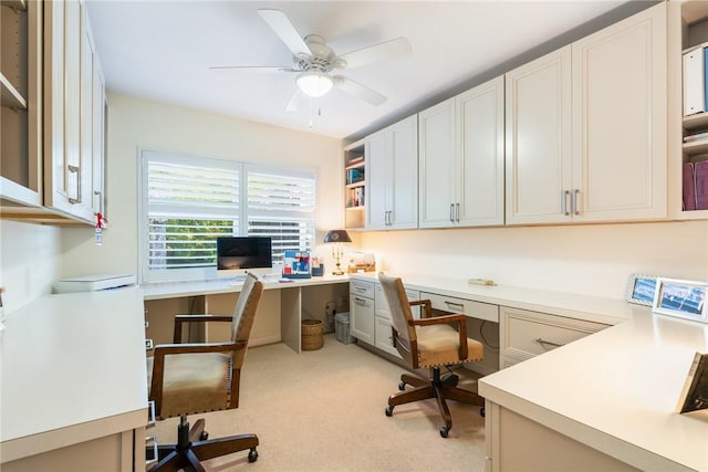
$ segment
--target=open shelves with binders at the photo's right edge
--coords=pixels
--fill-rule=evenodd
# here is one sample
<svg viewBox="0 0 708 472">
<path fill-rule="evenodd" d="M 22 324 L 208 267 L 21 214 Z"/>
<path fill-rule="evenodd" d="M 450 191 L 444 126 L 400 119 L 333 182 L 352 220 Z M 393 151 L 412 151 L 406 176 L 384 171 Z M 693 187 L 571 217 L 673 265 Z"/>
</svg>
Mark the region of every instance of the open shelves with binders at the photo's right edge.
<svg viewBox="0 0 708 472">
<path fill-rule="evenodd" d="M 680 3 L 681 15 L 681 211 L 708 218 L 708 2 Z"/>
</svg>

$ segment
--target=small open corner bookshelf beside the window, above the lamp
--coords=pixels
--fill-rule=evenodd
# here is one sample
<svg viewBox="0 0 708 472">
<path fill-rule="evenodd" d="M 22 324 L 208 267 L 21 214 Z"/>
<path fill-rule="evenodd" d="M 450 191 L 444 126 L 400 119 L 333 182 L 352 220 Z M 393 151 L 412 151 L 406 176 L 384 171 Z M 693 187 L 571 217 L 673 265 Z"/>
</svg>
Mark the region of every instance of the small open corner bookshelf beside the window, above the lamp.
<svg viewBox="0 0 708 472">
<path fill-rule="evenodd" d="M 364 141 L 344 148 L 344 224 L 364 228 L 366 222 L 366 158 Z"/>
</svg>

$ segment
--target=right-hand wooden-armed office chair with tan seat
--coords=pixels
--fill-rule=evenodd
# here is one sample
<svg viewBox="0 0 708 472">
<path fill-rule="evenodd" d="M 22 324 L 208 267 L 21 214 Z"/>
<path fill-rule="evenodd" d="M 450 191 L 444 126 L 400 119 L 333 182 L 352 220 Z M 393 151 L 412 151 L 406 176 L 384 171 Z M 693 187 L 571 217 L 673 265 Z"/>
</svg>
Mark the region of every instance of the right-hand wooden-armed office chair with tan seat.
<svg viewBox="0 0 708 472">
<path fill-rule="evenodd" d="M 452 428 L 447 400 L 483 407 L 485 399 L 473 391 L 458 388 L 459 377 L 452 373 L 441 376 L 440 367 L 480 361 L 483 346 L 467 337 L 465 315 L 433 316 L 429 300 L 408 302 L 399 277 L 389 277 L 381 273 L 378 281 L 391 307 L 394 346 L 410 368 L 430 368 L 430 378 L 408 374 L 400 376 L 398 389 L 403 391 L 388 397 L 386 416 L 391 417 L 397 405 L 435 398 L 445 420 L 440 436 L 447 438 Z M 420 319 L 413 318 L 410 307 L 416 305 L 425 307 Z M 450 324 L 456 324 L 457 331 Z M 413 389 L 406 390 L 406 385 Z M 483 410 L 481 413 L 483 415 Z"/>
</svg>

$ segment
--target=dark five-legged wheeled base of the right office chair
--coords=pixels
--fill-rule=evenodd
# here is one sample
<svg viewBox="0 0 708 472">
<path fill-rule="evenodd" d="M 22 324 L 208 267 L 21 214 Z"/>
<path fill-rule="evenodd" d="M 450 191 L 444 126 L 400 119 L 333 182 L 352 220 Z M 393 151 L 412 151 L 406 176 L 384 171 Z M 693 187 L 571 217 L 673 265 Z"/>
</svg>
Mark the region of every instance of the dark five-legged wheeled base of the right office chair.
<svg viewBox="0 0 708 472">
<path fill-rule="evenodd" d="M 447 406 L 447 400 L 455 400 L 483 407 L 485 399 L 473 391 L 458 388 L 457 382 L 459 381 L 459 377 L 457 375 L 449 374 L 441 377 L 439 367 L 433 367 L 430 371 L 433 374 L 430 379 L 403 374 L 400 376 L 400 384 L 398 385 L 398 388 L 404 390 L 406 385 L 409 385 L 413 389 L 400 391 L 388 397 L 386 416 L 392 416 L 394 407 L 398 405 L 435 398 L 437 400 L 440 415 L 445 420 L 445 426 L 440 428 L 440 436 L 442 438 L 447 438 L 448 432 L 452 429 L 452 417 L 450 416 L 450 409 Z"/>
</svg>

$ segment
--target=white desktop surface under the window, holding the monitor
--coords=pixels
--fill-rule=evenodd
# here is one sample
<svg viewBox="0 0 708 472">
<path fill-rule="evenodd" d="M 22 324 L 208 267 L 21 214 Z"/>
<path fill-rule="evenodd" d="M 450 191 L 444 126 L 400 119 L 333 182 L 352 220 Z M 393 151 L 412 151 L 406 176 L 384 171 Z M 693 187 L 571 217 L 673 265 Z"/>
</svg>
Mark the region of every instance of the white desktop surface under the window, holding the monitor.
<svg viewBox="0 0 708 472">
<path fill-rule="evenodd" d="M 287 279 L 283 280 L 280 276 L 266 276 L 261 279 L 264 281 L 263 290 L 279 290 L 288 287 L 301 287 L 310 285 L 326 285 L 332 283 L 347 283 L 350 281 L 346 274 L 344 275 L 323 275 L 310 279 Z M 201 282 L 163 282 L 163 283 L 148 283 L 142 284 L 145 300 L 159 300 L 171 298 L 175 296 L 195 296 L 195 295 L 211 295 L 217 293 L 238 292 L 241 290 L 243 283 L 235 283 L 228 279 L 223 280 L 210 280 Z"/>
</svg>

